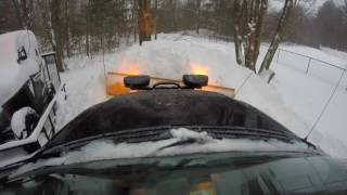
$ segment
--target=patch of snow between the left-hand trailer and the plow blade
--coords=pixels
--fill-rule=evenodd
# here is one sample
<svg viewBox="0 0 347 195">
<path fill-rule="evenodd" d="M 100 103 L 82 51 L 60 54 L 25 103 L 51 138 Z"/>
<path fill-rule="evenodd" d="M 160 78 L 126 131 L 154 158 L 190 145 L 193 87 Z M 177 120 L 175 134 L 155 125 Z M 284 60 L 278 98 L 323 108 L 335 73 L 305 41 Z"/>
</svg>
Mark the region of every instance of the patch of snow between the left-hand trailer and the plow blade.
<svg viewBox="0 0 347 195">
<path fill-rule="evenodd" d="M 117 58 L 117 55 L 106 56 L 106 63 Z M 110 61 L 108 61 L 110 60 Z M 61 74 L 62 83 L 66 83 L 65 95 L 57 99 L 57 129 L 63 128 L 69 120 L 88 107 L 107 100 L 105 93 L 105 75 L 102 64 L 102 57 L 92 60 L 88 57 L 75 56 L 68 63 L 70 67 L 76 65 L 82 68 L 70 68 L 70 70 Z"/>
</svg>

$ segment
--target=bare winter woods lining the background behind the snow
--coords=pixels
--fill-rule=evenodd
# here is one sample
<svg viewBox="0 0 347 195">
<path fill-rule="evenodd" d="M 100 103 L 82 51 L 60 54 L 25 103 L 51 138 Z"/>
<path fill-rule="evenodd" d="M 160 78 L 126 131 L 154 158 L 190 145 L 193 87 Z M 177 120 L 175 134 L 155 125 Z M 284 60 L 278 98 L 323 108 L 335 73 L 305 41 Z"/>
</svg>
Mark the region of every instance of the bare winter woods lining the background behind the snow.
<svg viewBox="0 0 347 195">
<path fill-rule="evenodd" d="M 317 13 L 314 0 L 283 0 L 269 10 L 269 0 L 4 0 L 0 31 L 33 30 L 43 50 L 64 58 L 93 57 L 120 44 L 151 40 L 160 32 L 191 30 L 197 35 L 232 39 L 236 63 L 256 72 L 261 42 L 269 42 L 261 68 L 269 69 L 282 41 L 347 50 L 347 1 L 326 1 Z M 303 5 L 306 3 L 306 6 Z M 7 10 L 5 8 L 12 8 Z M 292 12 L 292 14 L 291 14 Z M 14 20 L 16 18 L 16 20 Z M 155 39 L 154 38 L 154 39 Z"/>
</svg>

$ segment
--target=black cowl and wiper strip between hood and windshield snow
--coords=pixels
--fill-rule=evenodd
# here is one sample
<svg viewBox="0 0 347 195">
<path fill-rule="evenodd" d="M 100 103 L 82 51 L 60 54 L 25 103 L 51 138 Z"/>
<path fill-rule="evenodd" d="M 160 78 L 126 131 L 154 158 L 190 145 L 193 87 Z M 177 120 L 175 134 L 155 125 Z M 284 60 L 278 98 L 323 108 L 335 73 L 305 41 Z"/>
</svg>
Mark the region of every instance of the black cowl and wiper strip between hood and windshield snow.
<svg viewBox="0 0 347 195">
<path fill-rule="evenodd" d="M 52 145 L 43 148 L 38 156 L 51 156 L 56 153 L 68 152 L 74 148 L 86 145 L 87 143 L 95 140 L 112 140 L 115 144 L 118 143 L 140 143 L 140 142 L 154 142 L 160 140 L 171 139 L 171 129 L 185 128 L 195 132 L 207 132 L 214 139 L 250 139 L 250 140 L 279 140 L 286 143 L 292 143 L 293 140 L 305 142 L 294 133 L 283 130 L 267 130 L 247 127 L 232 127 L 232 126 L 159 126 L 139 128 L 130 130 L 115 131 L 111 133 L 99 134 L 72 141 L 68 143 Z M 195 140 L 184 140 L 176 144 L 196 143 Z M 305 142 L 307 143 L 307 142 Z M 309 144 L 311 145 L 311 144 Z M 175 145 L 174 145 L 175 146 Z M 51 155 L 50 155 L 51 154 Z M 35 158 L 35 157 L 34 157 Z"/>
</svg>

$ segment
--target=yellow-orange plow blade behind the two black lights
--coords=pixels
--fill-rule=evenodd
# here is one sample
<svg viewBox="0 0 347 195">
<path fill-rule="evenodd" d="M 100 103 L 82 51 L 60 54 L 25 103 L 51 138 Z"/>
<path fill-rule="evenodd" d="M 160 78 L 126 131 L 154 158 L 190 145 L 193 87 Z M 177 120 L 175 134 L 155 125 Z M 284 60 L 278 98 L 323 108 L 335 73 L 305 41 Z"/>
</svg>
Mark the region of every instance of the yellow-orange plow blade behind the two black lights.
<svg viewBox="0 0 347 195">
<path fill-rule="evenodd" d="M 107 95 L 119 95 L 119 94 L 130 93 L 130 89 L 124 86 L 124 78 L 128 76 L 133 76 L 133 75 L 125 74 L 125 73 L 108 72 L 106 74 Z M 157 82 L 177 82 L 183 86 L 183 82 L 181 80 L 151 77 L 150 86 L 153 86 L 154 83 L 157 83 Z M 202 90 L 218 92 L 229 98 L 235 96 L 235 90 L 233 88 L 208 84 L 207 87 L 203 87 Z"/>
</svg>

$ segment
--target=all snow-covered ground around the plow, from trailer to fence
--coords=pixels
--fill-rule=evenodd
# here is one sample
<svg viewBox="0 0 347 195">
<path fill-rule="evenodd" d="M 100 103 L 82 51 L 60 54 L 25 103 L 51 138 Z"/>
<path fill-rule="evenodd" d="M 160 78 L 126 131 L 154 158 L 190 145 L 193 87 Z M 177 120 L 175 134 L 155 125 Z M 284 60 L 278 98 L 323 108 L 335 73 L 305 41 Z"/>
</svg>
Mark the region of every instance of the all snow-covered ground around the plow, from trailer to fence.
<svg viewBox="0 0 347 195">
<path fill-rule="evenodd" d="M 316 50 L 301 46 L 284 44 L 281 48 L 345 67 L 343 54 L 330 49 Z M 261 48 L 259 62 L 266 52 Z M 66 83 L 67 100 L 60 99 L 57 123 L 62 128 L 86 108 L 103 102 L 105 72 L 131 72 L 151 76 L 180 79 L 196 69 L 208 74 L 210 82 L 236 90 L 236 99 L 264 110 L 288 129 L 305 138 L 329 100 L 335 74 L 301 70 L 307 62 L 292 55 L 281 55 L 272 64 L 275 77 L 270 84 L 246 68 L 235 64 L 234 46 L 181 34 L 159 35 L 158 40 L 145 42 L 94 58 L 75 56 L 67 61 L 70 70 L 62 74 Z M 105 66 L 103 66 L 103 64 Z M 305 65 L 303 65 L 305 64 Z M 305 69 L 305 68 L 304 68 Z M 314 73 L 318 73 L 314 75 Z M 248 79 L 247 79 L 248 78 Z M 337 89 L 326 113 L 317 125 L 309 140 L 333 156 L 347 158 L 347 75 Z"/>
</svg>

